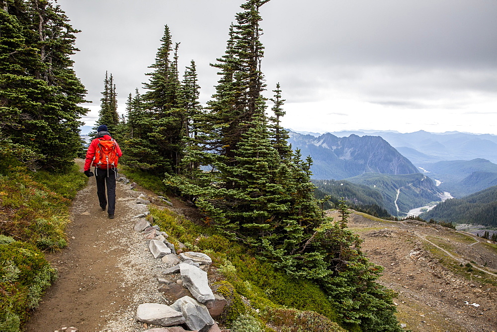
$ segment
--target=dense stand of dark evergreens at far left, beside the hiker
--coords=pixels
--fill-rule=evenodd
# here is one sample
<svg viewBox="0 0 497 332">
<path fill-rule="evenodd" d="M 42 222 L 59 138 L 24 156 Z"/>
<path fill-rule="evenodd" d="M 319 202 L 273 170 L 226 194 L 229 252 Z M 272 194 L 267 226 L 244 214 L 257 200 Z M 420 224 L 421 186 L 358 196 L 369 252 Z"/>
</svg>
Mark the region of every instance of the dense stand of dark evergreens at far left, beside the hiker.
<svg viewBox="0 0 497 332">
<path fill-rule="evenodd" d="M 70 56 L 75 30 L 46 0 L 0 1 L 0 140 L 33 168 L 72 163 L 79 147 L 78 119 L 87 112 L 85 89 Z"/>
</svg>

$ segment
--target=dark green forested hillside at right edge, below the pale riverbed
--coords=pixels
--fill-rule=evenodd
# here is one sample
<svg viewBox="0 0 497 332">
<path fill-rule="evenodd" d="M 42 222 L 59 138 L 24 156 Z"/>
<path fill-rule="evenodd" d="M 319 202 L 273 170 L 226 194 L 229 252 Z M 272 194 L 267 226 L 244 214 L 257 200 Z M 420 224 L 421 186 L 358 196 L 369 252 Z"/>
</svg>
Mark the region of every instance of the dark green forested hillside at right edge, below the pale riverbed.
<svg viewBox="0 0 497 332">
<path fill-rule="evenodd" d="M 425 220 L 497 227 L 497 186 L 460 199 L 448 199 L 420 217 Z"/>
</svg>

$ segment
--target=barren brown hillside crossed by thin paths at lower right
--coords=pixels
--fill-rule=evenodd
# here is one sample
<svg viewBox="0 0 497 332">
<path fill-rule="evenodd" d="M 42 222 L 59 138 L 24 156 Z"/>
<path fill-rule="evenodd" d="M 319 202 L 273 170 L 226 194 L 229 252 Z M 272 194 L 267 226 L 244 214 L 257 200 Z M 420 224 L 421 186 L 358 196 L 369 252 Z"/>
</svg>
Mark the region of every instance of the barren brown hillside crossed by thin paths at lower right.
<svg viewBox="0 0 497 332">
<path fill-rule="evenodd" d="M 338 217 L 336 211 L 329 215 Z M 400 323 L 412 331 L 497 330 L 497 245 L 469 233 L 417 221 L 353 213 L 348 226 L 399 293 Z"/>
</svg>

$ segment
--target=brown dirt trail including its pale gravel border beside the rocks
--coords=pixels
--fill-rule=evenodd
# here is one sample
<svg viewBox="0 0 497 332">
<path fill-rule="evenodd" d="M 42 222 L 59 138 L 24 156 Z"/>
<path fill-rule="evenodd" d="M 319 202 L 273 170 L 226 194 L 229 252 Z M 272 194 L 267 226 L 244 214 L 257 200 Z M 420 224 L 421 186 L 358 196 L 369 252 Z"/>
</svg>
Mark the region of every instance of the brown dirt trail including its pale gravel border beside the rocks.
<svg viewBox="0 0 497 332">
<path fill-rule="evenodd" d="M 82 161 L 79 161 L 81 164 Z M 134 319 L 140 303 L 165 303 L 157 291 L 161 267 L 131 217 L 146 210 L 138 191 L 117 182 L 115 219 L 108 219 L 96 196 L 95 178 L 72 206 L 68 247 L 47 259 L 59 278 L 34 310 L 24 331 L 144 331 Z"/>
</svg>

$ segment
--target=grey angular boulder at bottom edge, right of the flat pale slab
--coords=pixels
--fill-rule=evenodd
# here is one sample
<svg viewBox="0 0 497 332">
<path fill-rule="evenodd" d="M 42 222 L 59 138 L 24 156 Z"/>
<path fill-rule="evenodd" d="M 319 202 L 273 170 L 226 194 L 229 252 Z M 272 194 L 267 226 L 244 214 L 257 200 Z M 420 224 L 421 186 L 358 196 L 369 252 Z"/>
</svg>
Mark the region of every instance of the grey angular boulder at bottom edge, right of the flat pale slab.
<svg viewBox="0 0 497 332">
<path fill-rule="evenodd" d="M 214 320 L 207 308 L 189 296 L 183 296 L 171 305 L 171 309 L 180 311 L 185 318 L 185 324 L 192 330 L 209 331 Z"/>
</svg>

